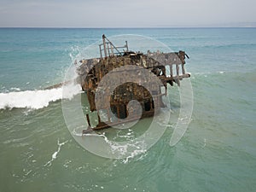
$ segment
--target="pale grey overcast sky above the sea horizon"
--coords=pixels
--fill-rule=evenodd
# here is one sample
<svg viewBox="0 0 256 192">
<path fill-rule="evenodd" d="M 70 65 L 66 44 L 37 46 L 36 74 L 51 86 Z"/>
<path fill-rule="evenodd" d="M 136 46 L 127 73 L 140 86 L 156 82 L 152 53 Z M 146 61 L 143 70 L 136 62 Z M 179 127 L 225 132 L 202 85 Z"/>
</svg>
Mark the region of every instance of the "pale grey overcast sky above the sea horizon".
<svg viewBox="0 0 256 192">
<path fill-rule="evenodd" d="M 0 0 L 0 27 L 256 26 L 255 0 Z"/>
</svg>

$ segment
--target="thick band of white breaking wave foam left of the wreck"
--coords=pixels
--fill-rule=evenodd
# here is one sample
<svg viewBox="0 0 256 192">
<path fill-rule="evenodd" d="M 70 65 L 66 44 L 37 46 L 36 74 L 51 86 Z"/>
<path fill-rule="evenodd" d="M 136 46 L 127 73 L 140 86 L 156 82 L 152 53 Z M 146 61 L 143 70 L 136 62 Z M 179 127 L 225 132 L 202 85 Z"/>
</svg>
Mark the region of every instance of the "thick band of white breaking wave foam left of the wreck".
<svg viewBox="0 0 256 192">
<path fill-rule="evenodd" d="M 68 84 L 69 94 L 64 99 L 71 99 L 81 91 L 79 84 Z M 18 90 L 18 89 L 16 89 Z M 3 108 L 45 108 L 49 102 L 62 99 L 62 87 L 51 90 L 24 90 L 0 93 L 0 109 Z"/>
</svg>

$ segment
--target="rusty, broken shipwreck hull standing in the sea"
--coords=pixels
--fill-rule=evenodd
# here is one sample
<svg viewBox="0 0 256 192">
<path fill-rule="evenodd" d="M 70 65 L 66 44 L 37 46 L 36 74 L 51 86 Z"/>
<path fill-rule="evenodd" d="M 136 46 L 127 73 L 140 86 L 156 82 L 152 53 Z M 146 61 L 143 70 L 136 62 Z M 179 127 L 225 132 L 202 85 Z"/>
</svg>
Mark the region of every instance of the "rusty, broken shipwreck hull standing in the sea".
<svg viewBox="0 0 256 192">
<path fill-rule="evenodd" d="M 102 36 L 99 49 L 100 58 L 79 61 L 81 65 L 77 69 L 79 83 L 87 94 L 90 112 L 96 111 L 98 116 L 98 124 L 91 127 L 90 114 L 86 114 L 89 128 L 83 133 L 153 116 L 160 108 L 165 107 L 162 96 L 166 96 L 167 84 L 179 86 L 182 79 L 190 77 L 184 67 L 185 58 L 189 56 L 182 50 L 172 53 L 148 50 L 147 54 L 143 54 L 129 50 L 127 41 L 124 46 L 116 47 L 105 35 Z M 115 70 L 125 66 L 129 66 L 129 70 Z M 148 73 L 142 73 L 142 69 Z M 111 82 L 107 81 L 102 86 L 102 79 L 109 74 L 113 77 Z M 156 79 L 150 74 L 154 74 L 162 85 L 156 84 Z M 126 76 L 135 80 L 120 84 L 120 79 L 125 79 Z M 140 84 L 141 81 L 143 84 Z M 115 89 L 111 90 L 109 84 Z M 100 100 L 96 100 L 96 90 L 101 93 L 98 94 Z M 128 108 L 131 100 L 136 100 L 141 105 L 143 112 L 140 116 L 136 108 Z M 100 111 L 107 115 L 104 122 L 100 117 Z M 112 119 L 110 112 L 115 114 L 116 119 Z"/>
</svg>

